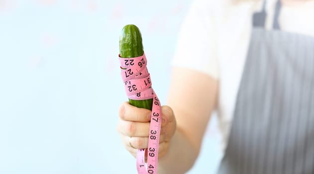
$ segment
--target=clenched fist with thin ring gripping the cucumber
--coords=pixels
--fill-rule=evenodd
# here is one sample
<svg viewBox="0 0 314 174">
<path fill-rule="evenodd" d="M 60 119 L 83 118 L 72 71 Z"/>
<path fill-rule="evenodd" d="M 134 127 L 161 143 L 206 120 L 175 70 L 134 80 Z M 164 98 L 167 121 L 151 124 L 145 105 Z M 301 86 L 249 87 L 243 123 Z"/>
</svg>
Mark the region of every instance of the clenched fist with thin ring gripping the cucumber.
<svg viewBox="0 0 314 174">
<path fill-rule="evenodd" d="M 159 140 L 159 157 L 164 156 L 169 147 L 169 141 L 176 130 L 176 119 L 169 106 L 161 107 L 162 123 Z M 122 103 L 119 109 L 119 132 L 125 148 L 136 158 L 137 149 L 147 149 L 151 111 Z"/>
</svg>

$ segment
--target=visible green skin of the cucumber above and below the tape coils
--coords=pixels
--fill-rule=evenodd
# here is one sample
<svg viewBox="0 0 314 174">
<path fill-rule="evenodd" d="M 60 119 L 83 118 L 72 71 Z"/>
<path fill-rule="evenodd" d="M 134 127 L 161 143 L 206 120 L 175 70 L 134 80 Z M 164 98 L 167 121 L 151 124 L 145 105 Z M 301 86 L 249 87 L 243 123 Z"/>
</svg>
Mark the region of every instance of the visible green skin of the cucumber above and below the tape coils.
<svg viewBox="0 0 314 174">
<path fill-rule="evenodd" d="M 130 24 L 123 27 L 119 47 L 121 58 L 139 57 L 144 54 L 142 35 L 137 26 Z M 129 98 L 129 103 L 136 107 L 152 110 L 153 99 L 133 100 Z"/>
</svg>

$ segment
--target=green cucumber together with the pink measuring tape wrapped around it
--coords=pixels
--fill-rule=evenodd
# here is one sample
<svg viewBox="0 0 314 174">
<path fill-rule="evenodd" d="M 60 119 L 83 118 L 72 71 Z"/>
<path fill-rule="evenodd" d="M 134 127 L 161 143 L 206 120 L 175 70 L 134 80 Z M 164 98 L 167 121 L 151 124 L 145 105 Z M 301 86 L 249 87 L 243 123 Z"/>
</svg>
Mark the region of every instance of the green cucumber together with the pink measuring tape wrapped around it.
<svg viewBox="0 0 314 174">
<path fill-rule="evenodd" d="M 147 60 L 143 50 L 142 36 L 135 25 L 123 27 L 119 40 L 119 61 L 121 78 L 124 83 L 129 103 L 133 106 L 152 111 L 148 148 L 139 149 L 136 155 L 138 174 L 157 174 L 158 150 L 161 129 L 161 105 L 154 92 L 147 71 Z M 145 168 L 145 151 L 147 150 L 147 170 Z"/>
</svg>

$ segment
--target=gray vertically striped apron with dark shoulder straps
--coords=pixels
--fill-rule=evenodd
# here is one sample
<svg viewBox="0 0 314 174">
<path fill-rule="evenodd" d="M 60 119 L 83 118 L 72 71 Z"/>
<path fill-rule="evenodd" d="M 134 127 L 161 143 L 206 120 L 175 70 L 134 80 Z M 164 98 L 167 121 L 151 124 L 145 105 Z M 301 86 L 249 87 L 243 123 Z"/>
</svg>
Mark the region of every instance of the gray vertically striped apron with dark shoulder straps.
<svg viewBox="0 0 314 174">
<path fill-rule="evenodd" d="M 273 30 L 264 29 L 265 7 L 253 15 L 218 174 L 314 174 L 314 38 L 280 31 L 280 7 Z"/>
</svg>

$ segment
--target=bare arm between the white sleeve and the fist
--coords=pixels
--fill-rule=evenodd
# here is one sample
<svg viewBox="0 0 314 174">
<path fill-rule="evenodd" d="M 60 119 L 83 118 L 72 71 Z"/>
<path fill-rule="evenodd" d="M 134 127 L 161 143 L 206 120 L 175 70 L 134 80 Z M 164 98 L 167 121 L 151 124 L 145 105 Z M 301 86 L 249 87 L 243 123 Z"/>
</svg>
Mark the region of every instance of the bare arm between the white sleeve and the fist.
<svg viewBox="0 0 314 174">
<path fill-rule="evenodd" d="M 177 126 L 168 149 L 162 152 L 165 154 L 160 154 L 159 174 L 183 174 L 194 165 L 216 105 L 217 86 L 217 80 L 206 74 L 173 69 L 167 104 Z"/>
</svg>

